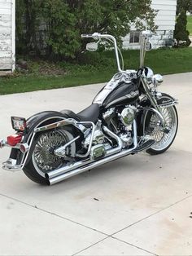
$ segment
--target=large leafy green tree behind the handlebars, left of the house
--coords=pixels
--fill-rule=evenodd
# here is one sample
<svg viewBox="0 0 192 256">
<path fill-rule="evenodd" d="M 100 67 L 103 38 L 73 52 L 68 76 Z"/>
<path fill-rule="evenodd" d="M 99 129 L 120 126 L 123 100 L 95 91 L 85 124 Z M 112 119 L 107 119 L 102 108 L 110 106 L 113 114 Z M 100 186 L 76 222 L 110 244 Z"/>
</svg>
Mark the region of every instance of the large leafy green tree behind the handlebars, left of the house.
<svg viewBox="0 0 192 256">
<path fill-rule="evenodd" d="M 25 44 L 33 47 L 36 42 L 34 29 L 38 29 L 38 19 L 46 24 L 45 38 L 47 54 L 75 58 L 85 42 L 81 33 L 111 33 L 120 37 L 129 33 L 131 23 L 136 21 L 139 29 L 155 29 L 155 11 L 151 0 L 16 0 L 30 2 L 25 4 L 25 17 L 33 20 L 25 34 Z M 36 9 L 33 11 L 32 9 Z M 31 8 L 31 9 L 30 9 Z M 28 15 L 28 11 L 30 14 Z M 36 11 L 37 10 L 37 11 Z M 26 20 L 27 21 L 27 20 Z"/>
</svg>

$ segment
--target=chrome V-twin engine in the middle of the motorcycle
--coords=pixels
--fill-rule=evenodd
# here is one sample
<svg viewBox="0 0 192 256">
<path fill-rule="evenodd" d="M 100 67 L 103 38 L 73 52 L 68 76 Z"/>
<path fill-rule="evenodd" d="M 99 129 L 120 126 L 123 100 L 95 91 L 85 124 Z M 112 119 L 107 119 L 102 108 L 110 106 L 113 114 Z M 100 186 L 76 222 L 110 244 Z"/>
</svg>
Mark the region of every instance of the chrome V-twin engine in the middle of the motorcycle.
<svg viewBox="0 0 192 256">
<path fill-rule="evenodd" d="M 132 124 L 135 119 L 135 108 L 132 105 L 119 109 L 110 108 L 103 114 L 104 119 L 112 127 L 113 132 L 122 143 L 122 148 L 129 148 L 133 144 Z M 112 138 L 112 139 L 111 139 Z M 96 160 L 99 157 L 104 157 L 108 150 L 116 148 L 117 138 L 111 135 L 108 137 L 106 131 L 103 132 L 101 121 L 95 125 L 94 135 L 92 129 L 88 129 L 85 133 L 85 139 L 82 141 L 82 148 L 89 149 L 91 143 L 90 158 Z M 114 140 L 115 139 L 115 140 Z"/>
</svg>

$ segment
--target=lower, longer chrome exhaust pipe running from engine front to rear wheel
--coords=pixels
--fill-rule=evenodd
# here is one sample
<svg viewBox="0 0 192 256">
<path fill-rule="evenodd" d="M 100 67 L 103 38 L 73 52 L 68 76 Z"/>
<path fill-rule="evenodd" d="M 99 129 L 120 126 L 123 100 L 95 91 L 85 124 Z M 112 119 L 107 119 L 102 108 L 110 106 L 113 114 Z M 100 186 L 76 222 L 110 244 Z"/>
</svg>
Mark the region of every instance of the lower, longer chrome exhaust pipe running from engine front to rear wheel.
<svg viewBox="0 0 192 256">
<path fill-rule="evenodd" d="M 101 166 L 101 165 L 103 165 L 103 164 L 105 164 L 109 161 L 114 161 L 114 160 L 116 160 L 120 157 L 125 157 L 125 156 L 129 155 L 131 152 L 133 152 L 134 149 L 137 148 L 137 125 L 136 125 L 136 121 L 133 121 L 133 131 L 134 131 L 133 148 L 130 148 L 128 150 L 124 150 L 123 152 L 113 154 L 109 157 L 105 157 L 105 158 L 103 158 L 99 161 L 90 162 L 87 165 L 81 166 L 81 167 L 79 167 L 75 170 L 68 171 L 67 173 L 59 174 L 58 176 L 55 176 L 54 178 L 47 179 L 47 183 L 49 185 L 59 183 L 59 182 L 63 181 L 64 179 L 71 178 L 72 176 L 74 176 L 76 174 L 81 174 L 81 173 L 85 172 L 86 170 L 93 169 L 93 168 Z"/>
</svg>

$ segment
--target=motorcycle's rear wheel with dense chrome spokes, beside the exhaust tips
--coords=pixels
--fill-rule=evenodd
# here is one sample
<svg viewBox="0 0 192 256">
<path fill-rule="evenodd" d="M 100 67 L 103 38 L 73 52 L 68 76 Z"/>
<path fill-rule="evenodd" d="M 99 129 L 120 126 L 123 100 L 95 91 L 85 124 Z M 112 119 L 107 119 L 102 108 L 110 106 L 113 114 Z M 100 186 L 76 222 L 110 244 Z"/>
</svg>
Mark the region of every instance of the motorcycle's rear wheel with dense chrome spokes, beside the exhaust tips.
<svg viewBox="0 0 192 256">
<path fill-rule="evenodd" d="M 34 139 L 31 159 L 27 166 L 24 166 L 24 174 L 36 183 L 47 184 L 46 173 L 59 169 L 67 163 L 63 157 L 54 154 L 55 149 L 62 147 L 72 139 L 70 130 L 64 129 L 48 130 L 37 135 Z M 75 143 L 72 143 L 67 150 L 74 152 Z"/>
</svg>

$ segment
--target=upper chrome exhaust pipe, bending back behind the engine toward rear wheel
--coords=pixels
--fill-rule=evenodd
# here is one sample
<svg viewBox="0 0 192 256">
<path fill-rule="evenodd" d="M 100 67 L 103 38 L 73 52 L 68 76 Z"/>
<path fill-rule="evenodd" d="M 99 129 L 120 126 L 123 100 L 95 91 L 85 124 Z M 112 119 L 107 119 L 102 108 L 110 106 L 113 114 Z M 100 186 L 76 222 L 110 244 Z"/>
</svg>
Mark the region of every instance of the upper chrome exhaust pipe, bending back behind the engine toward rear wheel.
<svg viewBox="0 0 192 256">
<path fill-rule="evenodd" d="M 120 150 L 123 148 L 123 143 L 122 143 L 120 137 L 115 135 L 113 132 L 111 132 L 111 130 L 109 130 L 105 126 L 103 127 L 103 130 L 107 133 L 107 135 L 110 135 L 112 138 L 116 139 L 116 141 L 118 143 L 118 147 L 113 148 L 113 149 L 107 151 L 106 157 L 109 157 L 109 156 L 111 156 L 113 154 L 116 154 L 117 152 L 120 152 Z M 58 148 L 57 151 L 59 151 L 59 150 L 60 149 Z M 77 168 L 79 168 L 81 166 L 85 166 L 85 165 L 87 165 L 87 164 L 89 164 L 91 162 L 93 162 L 93 161 L 88 158 L 88 159 L 86 159 L 84 161 L 78 161 L 76 163 L 73 163 L 72 165 L 64 166 L 64 167 L 59 168 L 57 170 L 52 170 L 52 171 L 50 171 L 49 173 L 46 174 L 46 179 L 55 178 L 55 177 L 59 176 L 60 174 L 65 174 L 65 173 L 68 173 L 68 172 L 70 172 L 72 170 L 76 170 Z"/>
</svg>

